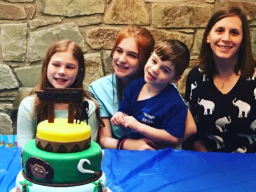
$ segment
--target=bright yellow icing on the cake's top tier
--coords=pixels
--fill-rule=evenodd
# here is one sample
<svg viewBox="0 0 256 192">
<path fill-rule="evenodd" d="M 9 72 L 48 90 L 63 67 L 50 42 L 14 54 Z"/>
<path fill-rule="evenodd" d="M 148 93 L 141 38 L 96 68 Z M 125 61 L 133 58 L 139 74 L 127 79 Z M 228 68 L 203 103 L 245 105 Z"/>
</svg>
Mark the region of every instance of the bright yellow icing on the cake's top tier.
<svg viewBox="0 0 256 192">
<path fill-rule="evenodd" d="M 90 138 L 91 127 L 85 122 L 81 124 L 68 124 L 67 118 L 55 118 L 54 123 L 49 123 L 48 120 L 40 122 L 37 125 L 36 136 L 41 140 L 54 142 L 76 142 Z M 79 121 L 77 121 L 79 122 Z"/>
</svg>

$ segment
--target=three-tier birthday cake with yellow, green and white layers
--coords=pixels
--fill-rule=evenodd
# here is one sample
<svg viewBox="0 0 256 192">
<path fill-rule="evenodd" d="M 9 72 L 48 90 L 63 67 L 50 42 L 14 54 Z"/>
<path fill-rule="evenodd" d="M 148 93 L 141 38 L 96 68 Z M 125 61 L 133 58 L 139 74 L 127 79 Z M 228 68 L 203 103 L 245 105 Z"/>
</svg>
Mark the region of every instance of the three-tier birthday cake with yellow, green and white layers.
<svg viewBox="0 0 256 192">
<path fill-rule="evenodd" d="M 40 122 L 35 140 L 22 148 L 22 170 L 16 187 L 22 191 L 106 191 L 101 170 L 104 152 L 91 141 L 90 125 L 56 118 Z"/>
</svg>

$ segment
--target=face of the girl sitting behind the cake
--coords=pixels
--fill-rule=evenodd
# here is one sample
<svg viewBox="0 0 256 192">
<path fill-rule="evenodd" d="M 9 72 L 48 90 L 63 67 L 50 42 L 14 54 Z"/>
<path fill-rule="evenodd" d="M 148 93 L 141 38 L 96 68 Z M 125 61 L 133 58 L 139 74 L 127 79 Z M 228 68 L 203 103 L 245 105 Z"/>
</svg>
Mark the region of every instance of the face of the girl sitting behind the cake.
<svg viewBox="0 0 256 192">
<path fill-rule="evenodd" d="M 56 52 L 47 67 L 47 79 L 54 88 L 69 88 L 76 80 L 79 64 L 71 51 Z"/>
</svg>

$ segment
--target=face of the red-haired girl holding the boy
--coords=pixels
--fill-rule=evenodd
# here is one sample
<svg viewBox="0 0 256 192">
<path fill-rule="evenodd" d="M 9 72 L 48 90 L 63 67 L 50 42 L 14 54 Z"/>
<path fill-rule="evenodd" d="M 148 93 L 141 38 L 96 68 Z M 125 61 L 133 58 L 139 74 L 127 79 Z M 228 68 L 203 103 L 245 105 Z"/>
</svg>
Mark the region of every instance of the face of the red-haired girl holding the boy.
<svg viewBox="0 0 256 192">
<path fill-rule="evenodd" d="M 134 38 L 124 38 L 116 46 L 113 53 L 112 65 L 123 83 L 129 83 L 140 72 L 138 46 Z"/>
</svg>

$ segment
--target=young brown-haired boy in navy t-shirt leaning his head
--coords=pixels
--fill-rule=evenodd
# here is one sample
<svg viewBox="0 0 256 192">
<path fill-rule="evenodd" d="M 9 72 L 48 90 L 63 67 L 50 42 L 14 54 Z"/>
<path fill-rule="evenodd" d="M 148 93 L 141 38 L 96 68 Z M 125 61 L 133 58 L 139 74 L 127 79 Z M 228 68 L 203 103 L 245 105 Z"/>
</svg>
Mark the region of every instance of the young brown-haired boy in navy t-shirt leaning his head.
<svg viewBox="0 0 256 192">
<path fill-rule="evenodd" d="M 179 40 L 159 42 L 144 68 L 144 78 L 132 81 L 124 92 L 113 125 L 129 129 L 127 137 L 148 138 L 159 146 L 173 146 L 183 138 L 188 108 L 172 83 L 189 65 L 188 47 Z M 116 148 L 122 148 L 124 139 Z"/>
</svg>

